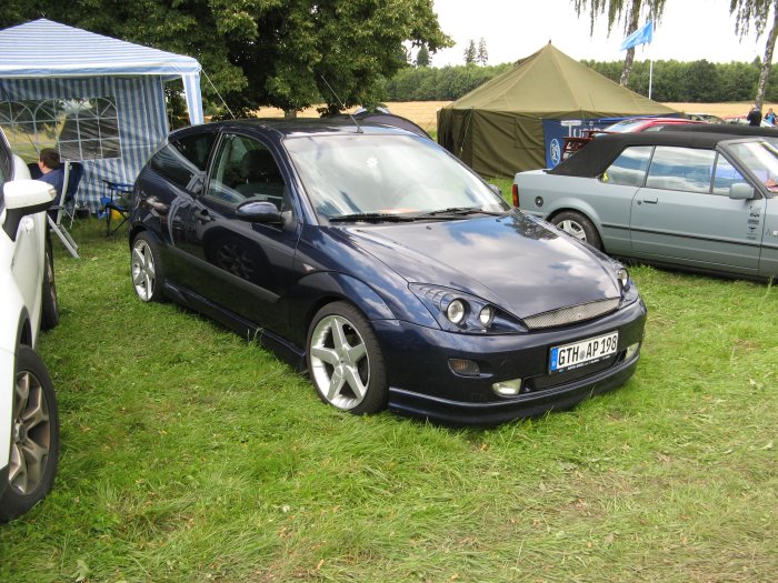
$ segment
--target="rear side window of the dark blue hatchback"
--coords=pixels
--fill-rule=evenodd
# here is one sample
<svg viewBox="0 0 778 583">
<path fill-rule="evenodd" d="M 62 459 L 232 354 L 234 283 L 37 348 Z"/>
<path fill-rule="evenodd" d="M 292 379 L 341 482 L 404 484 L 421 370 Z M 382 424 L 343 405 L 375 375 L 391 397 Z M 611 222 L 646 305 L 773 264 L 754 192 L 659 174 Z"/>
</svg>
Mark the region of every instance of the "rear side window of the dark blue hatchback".
<svg viewBox="0 0 778 583">
<path fill-rule="evenodd" d="M 198 193 L 213 144 L 212 133 L 189 135 L 167 143 L 149 165 L 178 187 Z"/>
</svg>

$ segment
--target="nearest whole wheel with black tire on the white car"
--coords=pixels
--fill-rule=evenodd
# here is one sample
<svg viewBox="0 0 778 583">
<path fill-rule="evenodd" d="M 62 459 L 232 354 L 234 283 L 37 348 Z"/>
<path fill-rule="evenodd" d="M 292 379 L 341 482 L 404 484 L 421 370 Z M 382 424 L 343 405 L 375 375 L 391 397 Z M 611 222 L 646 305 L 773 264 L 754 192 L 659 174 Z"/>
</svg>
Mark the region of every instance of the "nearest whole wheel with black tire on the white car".
<svg viewBox="0 0 778 583">
<path fill-rule="evenodd" d="M 19 346 L 11 416 L 11 452 L 0 522 L 23 514 L 51 491 L 59 460 L 59 416 L 46 364 Z"/>
</svg>

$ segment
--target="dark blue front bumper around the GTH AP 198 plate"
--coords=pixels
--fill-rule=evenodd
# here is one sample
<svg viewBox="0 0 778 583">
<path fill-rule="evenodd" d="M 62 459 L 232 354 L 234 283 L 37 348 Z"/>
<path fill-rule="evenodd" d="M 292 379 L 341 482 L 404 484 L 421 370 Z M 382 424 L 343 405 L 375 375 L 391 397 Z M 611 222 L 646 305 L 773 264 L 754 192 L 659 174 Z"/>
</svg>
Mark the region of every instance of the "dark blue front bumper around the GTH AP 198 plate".
<svg viewBox="0 0 778 583">
<path fill-rule="evenodd" d="M 510 335 L 456 334 L 397 321 L 373 322 L 389 368 L 389 409 L 441 423 L 492 425 L 550 410 L 569 409 L 590 395 L 614 390 L 635 373 L 646 305 L 641 300 L 581 324 Z M 617 353 L 606 362 L 550 375 L 551 346 L 618 330 Z M 449 359 L 478 363 L 478 376 L 451 371 Z M 498 381 L 523 380 L 515 396 L 495 393 Z"/>
</svg>

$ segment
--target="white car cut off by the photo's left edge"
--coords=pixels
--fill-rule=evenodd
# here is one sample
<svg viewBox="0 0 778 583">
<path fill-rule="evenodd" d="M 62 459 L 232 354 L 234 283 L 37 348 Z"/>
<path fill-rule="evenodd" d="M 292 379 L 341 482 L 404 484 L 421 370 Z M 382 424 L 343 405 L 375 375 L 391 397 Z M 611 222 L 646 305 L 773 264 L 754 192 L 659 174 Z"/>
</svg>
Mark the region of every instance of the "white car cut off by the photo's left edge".
<svg viewBox="0 0 778 583">
<path fill-rule="evenodd" d="M 0 131 L 0 522 L 43 499 L 57 471 L 57 401 L 34 350 L 39 330 L 59 321 L 46 222 L 53 198 Z"/>
</svg>

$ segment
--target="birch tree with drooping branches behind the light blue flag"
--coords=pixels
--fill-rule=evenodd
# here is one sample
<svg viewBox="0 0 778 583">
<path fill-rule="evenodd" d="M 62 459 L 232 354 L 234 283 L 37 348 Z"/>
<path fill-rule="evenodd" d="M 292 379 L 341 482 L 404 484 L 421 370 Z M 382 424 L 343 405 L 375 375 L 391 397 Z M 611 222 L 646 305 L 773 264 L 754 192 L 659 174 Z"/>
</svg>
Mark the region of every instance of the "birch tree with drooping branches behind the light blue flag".
<svg viewBox="0 0 778 583">
<path fill-rule="evenodd" d="M 570 0 L 578 16 L 581 12 L 589 11 L 589 32 L 594 34 L 595 21 L 600 14 L 608 16 L 608 36 L 610 36 L 614 24 L 624 22 L 624 36 L 628 37 L 636 30 L 644 20 L 654 20 L 655 24 L 661 20 L 665 11 L 665 0 L 645 0 L 646 17 L 640 18 L 644 12 L 644 0 Z M 736 1 L 736 0 L 732 0 Z M 778 1 L 778 0 L 776 0 Z M 627 86 L 629 73 L 632 71 L 635 62 L 635 48 L 627 49 L 627 56 L 624 60 L 624 69 L 621 70 L 622 86 Z"/>
</svg>

